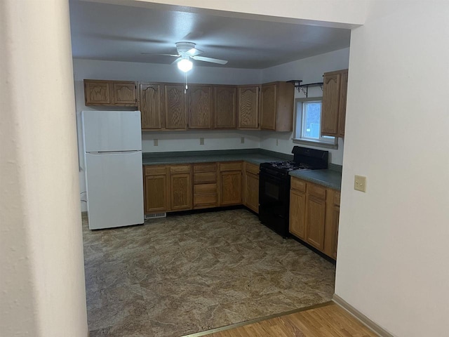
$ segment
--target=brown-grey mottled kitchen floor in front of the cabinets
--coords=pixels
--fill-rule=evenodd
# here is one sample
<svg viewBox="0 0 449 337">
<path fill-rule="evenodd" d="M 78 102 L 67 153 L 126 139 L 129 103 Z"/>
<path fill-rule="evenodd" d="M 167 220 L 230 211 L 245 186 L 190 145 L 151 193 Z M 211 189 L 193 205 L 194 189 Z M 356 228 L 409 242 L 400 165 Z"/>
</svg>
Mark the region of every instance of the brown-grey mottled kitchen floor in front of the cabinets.
<svg viewBox="0 0 449 337">
<path fill-rule="evenodd" d="M 183 336 L 323 303 L 335 265 L 245 209 L 88 230 L 88 325 L 97 336 Z"/>
</svg>

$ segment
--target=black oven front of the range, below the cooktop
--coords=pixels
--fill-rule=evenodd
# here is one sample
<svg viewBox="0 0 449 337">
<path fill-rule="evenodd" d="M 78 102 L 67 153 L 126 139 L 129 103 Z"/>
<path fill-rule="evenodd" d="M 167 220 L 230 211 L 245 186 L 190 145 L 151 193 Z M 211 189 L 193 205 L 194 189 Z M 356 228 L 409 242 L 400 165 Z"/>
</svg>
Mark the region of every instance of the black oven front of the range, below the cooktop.
<svg viewBox="0 0 449 337">
<path fill-rule="evenodd" d="M 290 176 L 276 177 L 260 172 L 259 219 L 284 237 L 288 234 Z"/>
</svg>

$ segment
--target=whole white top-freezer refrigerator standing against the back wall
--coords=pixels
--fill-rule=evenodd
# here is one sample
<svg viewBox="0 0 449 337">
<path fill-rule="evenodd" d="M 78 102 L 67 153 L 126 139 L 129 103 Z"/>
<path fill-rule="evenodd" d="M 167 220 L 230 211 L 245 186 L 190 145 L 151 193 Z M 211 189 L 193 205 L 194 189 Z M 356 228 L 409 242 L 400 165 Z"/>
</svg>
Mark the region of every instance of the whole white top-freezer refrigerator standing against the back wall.
<svg viewBox="0 0 449 337">
<path fill-rule="evenodd" d="M 89 228 L 144 223 L 140 111 L 81 112 Z"/>
</svg>

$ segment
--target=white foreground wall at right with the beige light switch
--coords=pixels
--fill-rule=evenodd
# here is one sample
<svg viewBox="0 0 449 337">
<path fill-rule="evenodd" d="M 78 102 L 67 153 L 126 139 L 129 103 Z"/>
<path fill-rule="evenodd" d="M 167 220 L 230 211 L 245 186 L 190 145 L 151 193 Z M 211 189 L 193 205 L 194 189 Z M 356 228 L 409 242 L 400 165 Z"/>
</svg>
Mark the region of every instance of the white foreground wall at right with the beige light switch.
<svg viewBox="0 0 449 337">
<path fill-rule="evenodd" d="M 394 336 L 448 336 L 449 3 L 378 2 L 351 34 L 335 293 Z"/>
</svg>

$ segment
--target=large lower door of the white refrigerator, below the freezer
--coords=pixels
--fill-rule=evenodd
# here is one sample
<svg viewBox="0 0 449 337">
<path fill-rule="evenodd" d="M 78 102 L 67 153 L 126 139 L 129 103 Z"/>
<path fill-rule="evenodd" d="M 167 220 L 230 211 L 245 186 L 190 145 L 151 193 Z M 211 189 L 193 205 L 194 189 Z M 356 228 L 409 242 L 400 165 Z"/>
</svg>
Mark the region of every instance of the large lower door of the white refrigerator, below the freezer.
<svg viewBox="0 0 449 337">
<path fill-rule="evenodd" d="M 142 152 L 86 153 L 89 228 L 144 223 Z"/>
</svg>

